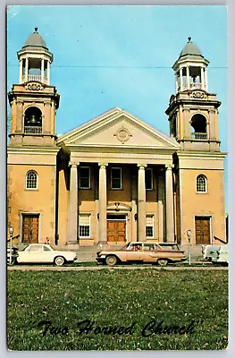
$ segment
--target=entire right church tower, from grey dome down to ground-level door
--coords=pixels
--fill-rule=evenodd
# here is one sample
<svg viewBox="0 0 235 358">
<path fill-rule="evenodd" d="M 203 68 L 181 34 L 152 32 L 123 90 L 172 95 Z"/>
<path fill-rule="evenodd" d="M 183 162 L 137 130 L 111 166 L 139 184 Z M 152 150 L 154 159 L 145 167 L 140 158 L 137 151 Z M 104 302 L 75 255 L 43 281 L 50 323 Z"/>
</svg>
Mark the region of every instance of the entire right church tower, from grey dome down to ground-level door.
<svg viewBox="0 0 235 358">
<path fill-rule="evenodd" d="M 225 240 L 223 160 L 220 150 L 218 107 L 209 92 L 209 61 L 188 39 L 173 64 L 175 94 L 166 115 L 170 134 L 180 144 L 173 156 L 175 235 L 178 243 L 210 244 L 214 236 Z"/>
</svg>

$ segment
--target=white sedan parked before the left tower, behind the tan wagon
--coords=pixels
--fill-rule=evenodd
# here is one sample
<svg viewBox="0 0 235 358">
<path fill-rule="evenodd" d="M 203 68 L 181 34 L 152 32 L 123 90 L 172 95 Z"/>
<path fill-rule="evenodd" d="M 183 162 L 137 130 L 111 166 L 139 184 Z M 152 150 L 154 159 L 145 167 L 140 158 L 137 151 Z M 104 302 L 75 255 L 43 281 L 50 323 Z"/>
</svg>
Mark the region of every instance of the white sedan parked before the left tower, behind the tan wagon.
<svg viewBox="0 0 235 358">
<path fill-rule="evenodd" d="M 23 251 L 19 251 L 18 263 L 55 263 L 63 266 L 66 262 L 77 260 L 77 252 L 56 251 L 46 243 L 30 243 Z"/>
</svg>

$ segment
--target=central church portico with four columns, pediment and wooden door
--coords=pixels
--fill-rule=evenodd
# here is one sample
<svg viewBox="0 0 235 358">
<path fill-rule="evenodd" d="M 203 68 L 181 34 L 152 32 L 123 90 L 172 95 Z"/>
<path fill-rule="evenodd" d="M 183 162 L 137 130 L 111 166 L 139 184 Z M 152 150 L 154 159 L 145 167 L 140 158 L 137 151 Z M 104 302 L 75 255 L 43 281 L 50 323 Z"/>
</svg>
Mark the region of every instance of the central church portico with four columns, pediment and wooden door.
<svg viewBox="0 0 235 358">
<path fill-rule="evenodd" d="M 116 108 L 113 112 L 116 112 Z M 68 146 L 70 149 L 68 243 L 86 241 L 105 244 L 110 241 L 119 243 L 121 240 L 146 241 L 150 238 L 172 242 L 175 237 L 172 154 L 178 149 L 178 144 L 169 137 L 165 138 L 171 142 L 166 143 L 165 138 L 159 138 L 158 132 L 154 137 L 153 132 L 150 132 L 153 131 L 152 127 L 138 120 L 138 135 L 139 124 L 145 134 L 142 140 L 138 140 L 142 146 L 128 146 L 127 141 L 134 137 L 132 133 L 133 126 L 137 125 L 136 118 L 132 117 L 135 123 L 131 123 L 130 114 L 122 110 L 118 111 L 116 117 L 116 120 L 113 119 L 112 131 L 115 134 L 114 142 L 104 142 L 102 146 L 97 143 L 96 150 L 93 150 L 95 142 L 92 146 L 86 145 L 84 141 L 80 145 L 80 128 L 72 133 L 71 140 L 63 138 L 63 148 Z M 122 129 L 121 141 L 115 138 L 121 135 L 116 126 Z M 103 141 L 108 138 L 105 127 L 103 123 L 104 132 L 100 132 Z M 86 141 L 92 141 L 92 134 L 89 132 Z M 147 145 L 149 140 L 152 141 L 151 146 Z M 143 141 L 146 141 L 146 145 Z M 82 186 L 80 181 L 85 180 L 85 171 L 87 184 L 82 182 Z M 84 217 L 89 225 L 87 236 L 82 233 Z"/>
</svg>

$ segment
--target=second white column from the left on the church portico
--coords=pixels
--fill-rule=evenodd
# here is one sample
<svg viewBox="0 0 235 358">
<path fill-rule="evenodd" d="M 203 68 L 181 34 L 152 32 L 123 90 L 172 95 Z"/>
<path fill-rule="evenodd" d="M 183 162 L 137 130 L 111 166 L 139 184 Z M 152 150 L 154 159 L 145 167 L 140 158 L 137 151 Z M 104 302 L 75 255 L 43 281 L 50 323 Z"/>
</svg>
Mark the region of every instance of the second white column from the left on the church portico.
<svg viewBox="0 0 235 358">
<path fill-rule="evenodd" d="M 99 243 L 107 243 L 106 164 L 99 163 Z"/>
</svg>

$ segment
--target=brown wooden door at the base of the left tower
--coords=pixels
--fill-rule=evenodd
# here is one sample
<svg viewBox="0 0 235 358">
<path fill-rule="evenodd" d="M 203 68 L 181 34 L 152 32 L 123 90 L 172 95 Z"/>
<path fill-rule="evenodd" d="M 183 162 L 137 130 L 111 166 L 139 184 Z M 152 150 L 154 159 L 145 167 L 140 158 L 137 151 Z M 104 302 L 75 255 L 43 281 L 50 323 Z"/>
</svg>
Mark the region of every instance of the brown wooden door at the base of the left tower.
<svg viewBox="0 0 235 358">
<path fill-rule="evenodd" d="M 39 214 L 23 214 L 22 243 L 38 243 Z"/>
</svg>

